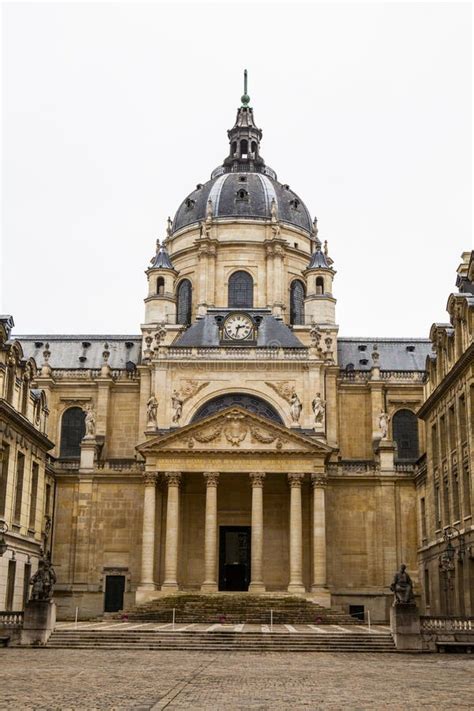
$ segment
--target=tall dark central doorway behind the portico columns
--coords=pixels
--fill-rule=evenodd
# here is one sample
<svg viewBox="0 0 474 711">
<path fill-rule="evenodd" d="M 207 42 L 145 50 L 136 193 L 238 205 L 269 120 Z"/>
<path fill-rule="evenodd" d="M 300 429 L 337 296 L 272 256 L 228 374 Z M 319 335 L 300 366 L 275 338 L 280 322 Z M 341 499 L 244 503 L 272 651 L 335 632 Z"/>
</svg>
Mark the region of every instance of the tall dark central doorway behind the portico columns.
<svg viewBox="0 0 474 711">
<path fill-rule="evenodd" d="M 250 526 L 219 529 L 219 590 L 249 589 Z"/>
</svg>

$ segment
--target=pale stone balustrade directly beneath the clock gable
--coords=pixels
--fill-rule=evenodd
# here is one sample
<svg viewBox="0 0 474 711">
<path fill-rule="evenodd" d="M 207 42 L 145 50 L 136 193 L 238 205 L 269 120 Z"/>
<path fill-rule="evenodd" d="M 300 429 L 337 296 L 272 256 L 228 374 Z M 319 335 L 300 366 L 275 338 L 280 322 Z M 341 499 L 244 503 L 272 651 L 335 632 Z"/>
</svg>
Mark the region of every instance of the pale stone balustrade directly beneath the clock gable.
<svg viewBox="0 0 474 711">
<path fill-rule="evenodd" d="M 181 348 L 169 347 L 163 358 L 173 360 L 308 360 L 307 348 Z"/>
</svg>

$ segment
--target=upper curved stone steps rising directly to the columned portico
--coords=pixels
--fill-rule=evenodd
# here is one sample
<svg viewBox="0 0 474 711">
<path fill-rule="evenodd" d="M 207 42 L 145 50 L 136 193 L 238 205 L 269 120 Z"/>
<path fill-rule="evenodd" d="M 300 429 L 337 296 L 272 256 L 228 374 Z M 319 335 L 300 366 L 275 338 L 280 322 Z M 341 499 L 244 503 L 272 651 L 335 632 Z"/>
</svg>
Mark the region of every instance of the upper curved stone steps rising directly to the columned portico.
<svg viewBox="0 0 474 711">
<path fill-rule="evenodd" d="M 274 624 L 360 624 L 350 615 L 322 607 L 303 597 L 248 593 L 166 595 L 125 610 L 115 617 L 126 618 L 129 622 L 171 622 L 173 609 L 175 620 L 179 623 L 268 624 L 272 610 Z"/>
</svg>

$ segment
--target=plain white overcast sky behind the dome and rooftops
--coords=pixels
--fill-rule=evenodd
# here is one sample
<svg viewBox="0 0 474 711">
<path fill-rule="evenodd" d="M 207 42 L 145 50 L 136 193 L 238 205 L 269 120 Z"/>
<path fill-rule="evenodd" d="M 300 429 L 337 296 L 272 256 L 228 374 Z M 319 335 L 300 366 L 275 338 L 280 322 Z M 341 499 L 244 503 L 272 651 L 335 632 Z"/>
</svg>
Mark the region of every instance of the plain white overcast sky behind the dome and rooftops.
<svg viewBox="0 0 474 711">
<path fill-rule="evenodd" d="M 319 219 L 344 336 L 427 337 L 471 231 L 471 7 L 3 5 L 3 313 L 139 333 L 167 216 L 228 150 Z"/>
</svg>

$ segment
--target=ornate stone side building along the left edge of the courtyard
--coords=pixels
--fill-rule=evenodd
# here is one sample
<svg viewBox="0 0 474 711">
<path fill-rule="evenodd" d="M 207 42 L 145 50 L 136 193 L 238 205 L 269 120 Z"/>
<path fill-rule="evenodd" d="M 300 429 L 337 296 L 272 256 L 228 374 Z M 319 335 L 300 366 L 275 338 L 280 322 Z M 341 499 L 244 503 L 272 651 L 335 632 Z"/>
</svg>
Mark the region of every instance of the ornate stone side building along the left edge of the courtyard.
<svg viewBox="0 0 474 711">
<path fill-rule="evenodd" d="M 22 610 L 41 550 L 50 551 L 55 491 L 47 400 L 12 327 L 0 316 L 0 605 Z"/>
</svg>

